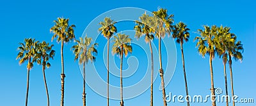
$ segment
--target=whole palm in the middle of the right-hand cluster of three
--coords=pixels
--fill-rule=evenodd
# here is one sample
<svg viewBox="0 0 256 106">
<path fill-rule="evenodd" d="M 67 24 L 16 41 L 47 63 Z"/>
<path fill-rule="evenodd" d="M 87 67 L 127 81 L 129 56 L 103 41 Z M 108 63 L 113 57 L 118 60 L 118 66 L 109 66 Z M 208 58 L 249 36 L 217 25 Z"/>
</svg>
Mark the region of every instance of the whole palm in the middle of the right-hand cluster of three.
<svg viewBox="0 0 256 106">
<path fill-rule="evenodd" d="M 218 34 L 217 36 L 220 42 L 216 42 L 216 50 L 220 58 L 223 60 L 223 67 L 224 67 L 224 78 L 225 78 L 225 93 L 228 97 L 228 87 L 227 87 L 227 72 L 226 72 L 226 63 L 227 63 L 227 56 L 228 56 L 228 47 L 234 44 L 233 42 L 236 39 L 234 34 L 230 33 L 229 27 L 223 27 L 222 25 L 218 27 Z M 226 104 L 228 106 L 228 98 L 226 98 Z"/>
</svg>

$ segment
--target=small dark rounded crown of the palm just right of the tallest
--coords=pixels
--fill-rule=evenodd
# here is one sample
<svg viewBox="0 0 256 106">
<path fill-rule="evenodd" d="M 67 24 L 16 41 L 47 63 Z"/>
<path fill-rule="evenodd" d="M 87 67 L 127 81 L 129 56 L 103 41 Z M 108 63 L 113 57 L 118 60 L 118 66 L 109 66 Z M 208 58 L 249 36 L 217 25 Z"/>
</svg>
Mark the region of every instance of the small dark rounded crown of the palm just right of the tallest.
<svg viewBox="0 0 256 106">
<path fill-rule="evenodd" d="M 183 22 L 179 22 L 176 25 L 173 25 L 173 34 L 172 37 L 176 39 L 177 43 L 184 43 L 184 41 L 188 41 L 189 39 L 189 29 L 187 25 Z"/>
</svg>

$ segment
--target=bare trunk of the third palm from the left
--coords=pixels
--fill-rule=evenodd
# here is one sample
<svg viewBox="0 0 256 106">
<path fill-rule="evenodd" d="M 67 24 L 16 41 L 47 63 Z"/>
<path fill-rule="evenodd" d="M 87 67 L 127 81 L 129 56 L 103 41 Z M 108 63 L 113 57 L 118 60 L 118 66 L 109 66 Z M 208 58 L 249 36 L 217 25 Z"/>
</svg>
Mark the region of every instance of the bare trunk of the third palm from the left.
<svg viewBox="0 0 256 106">
<path fill-rule="evenodd" d="M 64 105 L 64 60 L 63 60 L 63 39 L 61 39 L 61 100 L 60 105 Z"/>
</svg>

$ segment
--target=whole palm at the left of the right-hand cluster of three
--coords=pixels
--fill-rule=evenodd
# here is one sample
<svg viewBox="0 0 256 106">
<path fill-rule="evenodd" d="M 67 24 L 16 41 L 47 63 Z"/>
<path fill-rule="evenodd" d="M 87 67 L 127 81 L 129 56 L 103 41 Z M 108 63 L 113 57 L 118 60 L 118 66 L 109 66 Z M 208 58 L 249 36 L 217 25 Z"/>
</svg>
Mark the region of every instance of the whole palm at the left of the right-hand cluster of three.
<svg viewBox="0 0 256 106">
<path fill-rule="evenodd" d="M 216 39 L 217 27 L 212 25 L 212 27 L 204 25 L 204 30 L 198 29 L 200 37 L 195 37 L 194 41 L 197 40 L 196 47 L 198 52 L 204 57 L 206 54 L 210 56 L 210 73 L 211 73 L 211 96 L 212 96 L 212 106 L 216 106 L 215 102 L 215 92 L 214 92 L 214 82 L 213 82 L 213 70 L 212 70 L 212 59 L 214 58 L 216 49 L 215 45 L 218 41 Z"/>
</svg>

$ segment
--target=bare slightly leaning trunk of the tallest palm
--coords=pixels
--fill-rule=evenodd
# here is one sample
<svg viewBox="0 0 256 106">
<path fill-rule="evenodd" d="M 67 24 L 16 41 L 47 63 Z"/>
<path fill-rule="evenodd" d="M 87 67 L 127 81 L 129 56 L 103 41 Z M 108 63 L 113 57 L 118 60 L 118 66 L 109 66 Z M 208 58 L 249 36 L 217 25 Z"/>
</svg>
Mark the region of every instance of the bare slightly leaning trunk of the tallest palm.
<svg viewBox="0 0 256 106">
<path fill-rule="evenodd" d="M 161 37 L 159 37 L 159 48 L 158 48 L 158 51 L 159 51 L 159 63 L 160 63 L 160 69 L 159 69 L 159 73 L 160 73 L 160 76 L 161 76 L 161 85 L 162 85 L 162 88 L 163 88 L 163 102 L 164 102 L 164 106 L 167 106 L 167 103 L 166 103 L 166 94 L 165 94 L 165 88 L 164 88 L 164 70 L 162 68 L 162 57 L 161 57 Z"/>
</svg>

